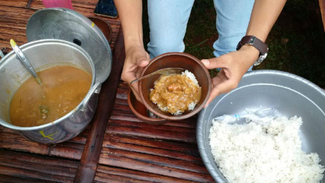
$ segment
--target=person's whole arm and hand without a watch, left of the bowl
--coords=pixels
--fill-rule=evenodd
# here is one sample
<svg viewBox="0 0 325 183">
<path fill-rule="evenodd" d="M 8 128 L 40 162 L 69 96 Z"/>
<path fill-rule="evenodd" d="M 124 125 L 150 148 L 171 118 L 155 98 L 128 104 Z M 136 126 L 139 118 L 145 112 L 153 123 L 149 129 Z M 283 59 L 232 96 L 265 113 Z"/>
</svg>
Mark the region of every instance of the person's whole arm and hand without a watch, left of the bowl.
<svg viewBox="0 0 325 183">
<path fill-rule="evenodd" d="M 126 58 L 122 71 L 122 80 L 127 82 L 135 97 L 138 95 L 138 83 L 130 84 L 140 76 L 142 68 L 149 64 L 150 57 L 143 46 L 142 0 L 114 0 L 123 27 Z"/>
</svg>

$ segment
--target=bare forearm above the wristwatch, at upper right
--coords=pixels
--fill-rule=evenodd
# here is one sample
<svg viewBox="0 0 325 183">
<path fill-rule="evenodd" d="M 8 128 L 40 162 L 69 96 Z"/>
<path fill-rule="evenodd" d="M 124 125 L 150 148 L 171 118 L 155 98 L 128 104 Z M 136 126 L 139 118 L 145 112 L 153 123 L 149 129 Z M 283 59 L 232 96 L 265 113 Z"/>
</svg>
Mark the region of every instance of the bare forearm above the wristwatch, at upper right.
<svg viewBox="0 0 325 183">
<path fill-rule="evenodd" d="M 255 0 L 246 35 L 265 42 L 286 0 Z"/>
</svg>

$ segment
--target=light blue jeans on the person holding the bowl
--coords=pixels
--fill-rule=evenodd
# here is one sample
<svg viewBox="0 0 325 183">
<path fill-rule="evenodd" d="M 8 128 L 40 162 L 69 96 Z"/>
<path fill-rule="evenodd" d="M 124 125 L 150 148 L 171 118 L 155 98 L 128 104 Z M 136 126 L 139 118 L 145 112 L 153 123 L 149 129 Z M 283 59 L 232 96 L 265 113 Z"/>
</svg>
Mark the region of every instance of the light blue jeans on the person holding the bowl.
<svg viewBox="0 0 325 183">
<path fill-rule="evenodd" d="M 154 58 L 167 52 L 183 52 L 187 22 L 194 0 L 148 0 L 150 43 Z M 219 38 L 213 44 L 216 57 L 236 50 L 245 36 L 254 0 L 214 0 Z M 205 58 L 209 59 L 209 58 Z"/>
</svg>

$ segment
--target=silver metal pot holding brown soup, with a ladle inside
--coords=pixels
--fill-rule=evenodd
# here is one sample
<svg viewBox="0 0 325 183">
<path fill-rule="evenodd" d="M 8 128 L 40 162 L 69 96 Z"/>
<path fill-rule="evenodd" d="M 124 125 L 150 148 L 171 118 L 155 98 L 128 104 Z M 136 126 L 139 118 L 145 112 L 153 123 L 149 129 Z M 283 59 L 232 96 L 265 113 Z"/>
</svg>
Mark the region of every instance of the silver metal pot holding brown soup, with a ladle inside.
<svg viewBox="0 0 325 183">
<path fill-rule="evenodd" d="M 10 124 L 10 102 L 31 74 L 11 51 L 0 60 L 0 124 L 40 143 L 59 143 L 77 136 L 91 121 L 101 89 L 101 83 L 95 81 L 96 71 L 91 57 L 82 47 L 57 39 L 34 41 L 20 48 L 36 71 L 54 66 L 73 66 L 91 75 L 91 87 L 84 100 L 60 119 L 36 127 L 14 126 Z"/>
</svg>

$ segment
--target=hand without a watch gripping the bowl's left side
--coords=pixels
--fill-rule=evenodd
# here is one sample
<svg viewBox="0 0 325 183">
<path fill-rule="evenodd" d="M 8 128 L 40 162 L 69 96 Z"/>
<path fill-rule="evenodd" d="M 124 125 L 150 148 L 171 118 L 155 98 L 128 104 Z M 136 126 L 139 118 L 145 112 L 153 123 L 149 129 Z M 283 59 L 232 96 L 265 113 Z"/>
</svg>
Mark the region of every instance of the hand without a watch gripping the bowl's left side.
<svg viewBox="0 0 325 183">
<path fill-rule="evenodd" d="M 130 48 L 126 50 L 121 78 L 129 84 L 134 96 L 140 102 L 142 101 L 139 96 L 138 82 L 132 84 L 130 84 L 130 82 L 140 77 L 142 69 L 149 64 L 149 61 L 150 56 L 143 46 L 130 46 Z"/>
</svg>

